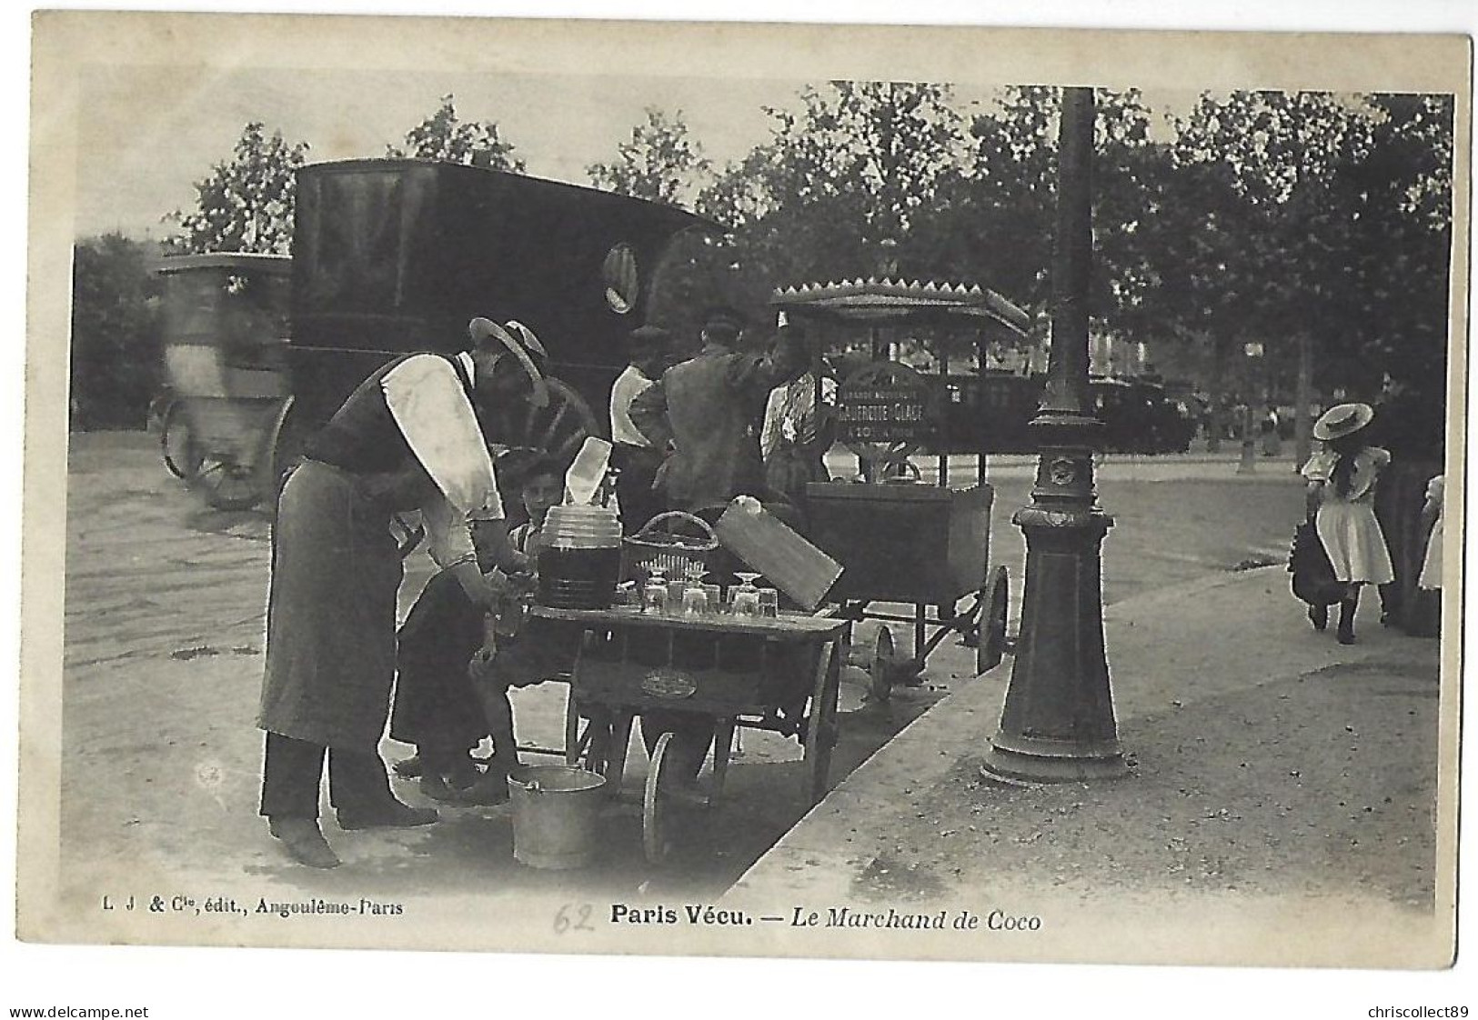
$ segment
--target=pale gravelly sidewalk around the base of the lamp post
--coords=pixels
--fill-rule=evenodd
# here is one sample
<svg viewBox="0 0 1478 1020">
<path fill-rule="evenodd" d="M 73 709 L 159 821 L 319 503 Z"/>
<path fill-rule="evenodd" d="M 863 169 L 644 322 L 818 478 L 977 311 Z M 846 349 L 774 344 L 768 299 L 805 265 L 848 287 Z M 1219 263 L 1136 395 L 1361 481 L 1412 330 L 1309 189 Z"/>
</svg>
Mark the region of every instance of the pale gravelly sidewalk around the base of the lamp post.
<svg viewBox="0 0 1478 1020">
<path fill-rule="evenodd" d="M 822 925 L 840 906 L 1041 925 L 968 939 L 820 927 L 810 949 L 788 933 L 786 951 L 813 955 L 897 955 L 910 936 L 943 958 L 1441 965 L 1438 643 L 1382 628 L 1364 602 L 1354 646 L 1308 627 L 1281 568 L 1117 603 L 1106 634 L 1126 779 L 980 778 L 1008 658 L 956 680 L 726 900 L 801 906 Z M 964 655 L 944 646 L 930 667 L 967 676 Z"/>
</svg>

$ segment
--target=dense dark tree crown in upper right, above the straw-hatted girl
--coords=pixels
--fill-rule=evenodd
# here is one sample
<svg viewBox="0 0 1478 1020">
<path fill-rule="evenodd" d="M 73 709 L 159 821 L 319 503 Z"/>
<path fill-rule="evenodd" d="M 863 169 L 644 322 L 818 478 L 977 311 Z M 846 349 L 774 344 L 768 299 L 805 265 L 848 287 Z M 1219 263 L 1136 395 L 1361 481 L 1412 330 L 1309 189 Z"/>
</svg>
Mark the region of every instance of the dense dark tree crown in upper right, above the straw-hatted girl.
<svg viewBox="0 0 1478 1020">
<path fill-rule="evenodd" d="M 1308 334 L 1320 381 L 1367 399 L 1441 378 L 1450 99 L 1203 95 L 1176 127 L 1169 322 L 1265 340 L 1283 367 Z"/>
</svg>

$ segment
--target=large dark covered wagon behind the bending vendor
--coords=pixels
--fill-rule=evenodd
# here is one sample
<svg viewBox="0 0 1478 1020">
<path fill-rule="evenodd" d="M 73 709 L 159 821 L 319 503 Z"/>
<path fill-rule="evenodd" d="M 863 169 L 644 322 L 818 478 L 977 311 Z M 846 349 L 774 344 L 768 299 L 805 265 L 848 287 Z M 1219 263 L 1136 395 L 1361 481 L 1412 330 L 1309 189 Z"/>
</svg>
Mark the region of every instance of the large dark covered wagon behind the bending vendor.
<svg viewBox="0 0 1478 1020">
<path fill-rule="evenodd" d="M 281 260 L 291 266 L 291 340 L 278 346 L 270 395 L 234 390 L 229 378 L 222 387 L 253 412 L 228 415 L 238 432 L 222 476 L 234 483 L 217 486 L 214 506 L 270 498 L 367 375 L 403 353 L 461 349 L 477 315 L 534 330 L 556 375 L 547 408 L 485 421 L 489 438 L 572 454 L 609 427 L 591 408 L 627 364 L 627 334 L 646 321 L 668 242 L 712 228 L 671 205 L 426 160 L 302 167 L 296 201 L 293 259 Z"/>
</svg>

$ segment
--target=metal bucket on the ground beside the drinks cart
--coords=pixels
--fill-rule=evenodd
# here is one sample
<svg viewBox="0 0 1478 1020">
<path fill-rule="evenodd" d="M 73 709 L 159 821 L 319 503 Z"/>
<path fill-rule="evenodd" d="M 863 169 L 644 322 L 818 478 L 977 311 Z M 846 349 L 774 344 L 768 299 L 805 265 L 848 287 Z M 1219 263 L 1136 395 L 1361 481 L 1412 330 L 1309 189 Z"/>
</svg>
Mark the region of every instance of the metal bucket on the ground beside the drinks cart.
<svg viewBox="0 0 1478 1020">
<path fill-rule="evenodd" d="M 554 871 L 588 865 L 605 785 L 605 776 L 571 766 L 528 766 L 510 775 L 514 859 Z"/>
</svg>

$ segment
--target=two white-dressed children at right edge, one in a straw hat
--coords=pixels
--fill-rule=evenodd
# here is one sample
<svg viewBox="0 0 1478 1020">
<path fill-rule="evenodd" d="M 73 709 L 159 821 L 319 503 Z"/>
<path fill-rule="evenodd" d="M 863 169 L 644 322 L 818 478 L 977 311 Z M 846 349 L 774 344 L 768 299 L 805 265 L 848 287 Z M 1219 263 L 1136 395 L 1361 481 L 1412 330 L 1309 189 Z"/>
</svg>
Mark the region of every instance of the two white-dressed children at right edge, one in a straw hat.
<svg viewBox="0 0 1478 1020">
<path fill-rule="evenodd" d="M 1302 467 L 1307 513 L 1329 557 L 1335 581 L 1341 585 L 1336 603 L 1336 636 L 1341 645 L 1355 642 L 1361 590 L 1395 579 L 1386 537 L 1375 511 L 1376 483 L 1391 464 L 1391 454 L 1369 442 L 1375 409 L 1369 404 L 1339 404 L 1329 408 L 1314 423 L 1314 439 L 1323 448 Z M 1422 507 L 1428 540 L 1417 585 L 1428 590 L 1443 587 L 1443 489 L 1441 475 L 1431 479 Z M 1314 630 L 1326 630 L 1329 606 L 1311 603 L 1308 618 Z"/>
</svg>

